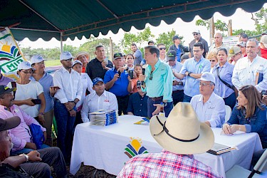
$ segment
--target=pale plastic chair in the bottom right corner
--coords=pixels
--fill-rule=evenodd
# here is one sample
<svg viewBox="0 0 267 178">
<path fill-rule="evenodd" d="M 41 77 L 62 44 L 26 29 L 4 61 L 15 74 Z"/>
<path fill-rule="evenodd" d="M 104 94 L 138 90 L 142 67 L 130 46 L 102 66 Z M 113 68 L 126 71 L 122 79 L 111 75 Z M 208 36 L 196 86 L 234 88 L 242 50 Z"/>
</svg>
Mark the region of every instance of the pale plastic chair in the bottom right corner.
<svg viewBox="0 0 267 178">
<path fill-rule="evenodd" d="M 267 150 L 263 152 L 260 159 L 258 159 L 257 164 L 253 167 L 253 171 L 249 171 L 240 167 L 239 165 L 234 165 L 231 169 L 226 172 L 226 178 L 236 178 L 236 177 L 266 177 L 266 174 L 261 175 L 256 172 L 266 172 L 267 169 Z"/>
</svg>

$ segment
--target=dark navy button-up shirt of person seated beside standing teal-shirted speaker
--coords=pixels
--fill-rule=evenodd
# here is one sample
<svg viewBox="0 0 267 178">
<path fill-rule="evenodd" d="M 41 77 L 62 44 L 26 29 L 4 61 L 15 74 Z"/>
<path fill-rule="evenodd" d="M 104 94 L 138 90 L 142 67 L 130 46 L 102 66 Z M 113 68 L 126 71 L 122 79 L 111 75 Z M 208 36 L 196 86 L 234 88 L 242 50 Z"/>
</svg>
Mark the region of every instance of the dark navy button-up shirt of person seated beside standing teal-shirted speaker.
<svg viewBox="0 0 267 178">
<path fill-rule="evenodd" d="M 138 92 L 130 95 L 128 101 L 127 112 L 132 112 L 134 115 L 147 117 L 147 95 L 142 97 Z"/>
</svg>

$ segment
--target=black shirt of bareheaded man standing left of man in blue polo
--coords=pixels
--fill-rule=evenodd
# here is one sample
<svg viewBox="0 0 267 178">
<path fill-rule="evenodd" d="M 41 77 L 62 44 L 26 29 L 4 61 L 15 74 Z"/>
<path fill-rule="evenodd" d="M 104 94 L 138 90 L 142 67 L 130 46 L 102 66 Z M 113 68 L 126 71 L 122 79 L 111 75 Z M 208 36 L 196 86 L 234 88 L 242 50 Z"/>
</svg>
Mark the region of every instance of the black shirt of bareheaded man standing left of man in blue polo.
<svg viewBox="0 0 267 178">
<path fill-rule="evenodd" d="M 110 60 L 108 60 L 108 68 L 112 68 L 113 65 Z M 86 73 L 89 75 L 91 80 L 94 80 L 95 78 L 102 78 L 104 79 L 105 76 L 105 70 L 101 64 L 100 61 L 98 61 L 97 58 L 94 58 L 92 61 L 90 61 L 86 66 Z"/>
</svg>

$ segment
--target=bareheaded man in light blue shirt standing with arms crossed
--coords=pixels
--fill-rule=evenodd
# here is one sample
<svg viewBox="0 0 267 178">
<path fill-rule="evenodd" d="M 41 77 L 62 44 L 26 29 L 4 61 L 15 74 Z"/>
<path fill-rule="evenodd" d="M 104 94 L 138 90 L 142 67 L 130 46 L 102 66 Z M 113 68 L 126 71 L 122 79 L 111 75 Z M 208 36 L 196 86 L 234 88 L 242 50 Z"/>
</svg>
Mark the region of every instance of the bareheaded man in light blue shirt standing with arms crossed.
<svg viewBox="0 0 267 178">
<path fill-rule="evenodd" d="M 174 73 L 174 76 L 182 80 L 187 76 L 184 85 L 184 102 L 190 102 L 194 95 L 199 94 L 199 81 L 202 73 L 211 70 L 211 63 L 206 58 L 203 58 L 204 53 L 203 44 L 201 42 L 195 43 L 193 47 L 194 58 L 189 58 L 184 62 L 180 73 Z"/>
</svg>

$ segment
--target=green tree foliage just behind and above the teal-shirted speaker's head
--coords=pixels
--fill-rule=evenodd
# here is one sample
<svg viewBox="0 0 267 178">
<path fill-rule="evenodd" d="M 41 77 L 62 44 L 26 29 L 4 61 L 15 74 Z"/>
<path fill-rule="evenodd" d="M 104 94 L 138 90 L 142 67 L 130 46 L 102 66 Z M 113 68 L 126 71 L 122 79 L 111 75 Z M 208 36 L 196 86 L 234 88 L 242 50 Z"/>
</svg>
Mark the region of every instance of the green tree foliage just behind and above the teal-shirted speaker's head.
<svg viewBox="0 0 267 178">
<path fill-rule="evenodd" d="M 150 27 L 147 27 L 144 29 L 144 31 L 141 31 L 137 34 L 125 33 L 124 37 L 120 41 L 119 46 L 122 47 L 123 52 L 132 53 L 131 44 L 136 43 L 137 48 L 140 48 L 140 50 L 142 51 L 142 48 L 141 48 L 142 44 L 143 43 L 147 44 L 147 41 L 152 40 L 152 38 L 154 37 L 155 35 L 151 33 Z"/>
</svg>

